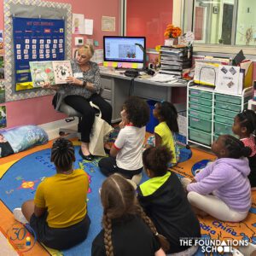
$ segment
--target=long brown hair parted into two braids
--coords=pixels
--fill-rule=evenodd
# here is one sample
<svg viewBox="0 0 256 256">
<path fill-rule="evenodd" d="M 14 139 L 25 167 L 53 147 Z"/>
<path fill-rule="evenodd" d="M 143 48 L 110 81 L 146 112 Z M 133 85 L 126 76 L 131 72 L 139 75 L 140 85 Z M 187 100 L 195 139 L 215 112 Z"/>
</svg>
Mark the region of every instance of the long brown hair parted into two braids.
<svg viewBox="0 0 256 256">
<path fill-rule="evenodd" d="M 102 183 L 101 200 L 103 206 L 102 226 L 107 256 L 113 256 L 112 219 L 125 218 L 128 215 L 140 216 L 154 235 L 158 237 L 161 247 L 164 250 L 169 249 L 169 242 L 164 236 L 157 233 L 154 224 L 139 206 L 133 186 L 124 177 L 119 174 L 109 176 Z"/>
</svg>

